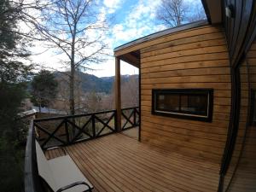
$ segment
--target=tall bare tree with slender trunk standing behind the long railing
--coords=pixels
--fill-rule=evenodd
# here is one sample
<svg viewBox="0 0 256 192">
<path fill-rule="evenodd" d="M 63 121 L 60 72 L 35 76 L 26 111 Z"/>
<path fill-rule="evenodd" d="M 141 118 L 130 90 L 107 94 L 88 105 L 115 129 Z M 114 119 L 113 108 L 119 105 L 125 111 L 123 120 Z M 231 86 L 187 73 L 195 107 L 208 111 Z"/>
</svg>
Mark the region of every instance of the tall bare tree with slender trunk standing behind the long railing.
<svg viewBox="0 0 256 192">
<path fill-rule="evenodd" d="M 108 29 L 96 0 L 61 0 L 42 9 L 41 19 L 34 21 L 38 32 L 49 41 L 49 47 L 66 55 L 63 62 L 70 66 L 69 109 L 75 113 L 74 84 L 76 71 L 88 69 L 88 64 L 103 61 L 107 44 L 104 32 Z"/>
</svg>

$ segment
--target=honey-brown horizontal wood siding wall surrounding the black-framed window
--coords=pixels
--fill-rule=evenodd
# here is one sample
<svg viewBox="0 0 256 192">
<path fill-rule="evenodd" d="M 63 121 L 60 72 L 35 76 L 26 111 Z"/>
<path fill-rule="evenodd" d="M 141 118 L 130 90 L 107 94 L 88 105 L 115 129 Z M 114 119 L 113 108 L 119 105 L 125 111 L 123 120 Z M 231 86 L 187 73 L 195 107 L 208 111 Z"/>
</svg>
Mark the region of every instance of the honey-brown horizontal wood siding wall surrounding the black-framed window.
<svg viewBox="0 0 256 192">
<path fill-rule="evenodd" d="M 143 142 L 220 163 L 231 102 L 226 47 L 222 28 L 203 26 L 130 48 L 141 50 Z M 214 89 L 212 123 L 152 115 L 151 90 L 165 88 Z"/>
</svg>

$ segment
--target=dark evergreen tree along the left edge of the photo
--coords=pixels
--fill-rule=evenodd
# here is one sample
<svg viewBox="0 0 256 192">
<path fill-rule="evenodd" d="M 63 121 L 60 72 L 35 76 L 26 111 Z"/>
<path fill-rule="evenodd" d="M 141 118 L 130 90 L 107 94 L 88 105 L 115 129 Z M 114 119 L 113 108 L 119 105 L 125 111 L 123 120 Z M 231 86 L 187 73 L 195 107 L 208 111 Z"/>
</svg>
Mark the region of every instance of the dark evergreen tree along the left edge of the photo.
<svg viewBox="0 0 256 192">
<path fill-rule="evenodd" d="M 21 127 L 20 103 L 26 96 L 26 79 L 31 66 L 21 60 L 29 53 L 20 36 L 19 9 L 9 0 L 0 0 L 0 191 L 22 191 L 23 155 L 18 143 Z"/>
</svg>

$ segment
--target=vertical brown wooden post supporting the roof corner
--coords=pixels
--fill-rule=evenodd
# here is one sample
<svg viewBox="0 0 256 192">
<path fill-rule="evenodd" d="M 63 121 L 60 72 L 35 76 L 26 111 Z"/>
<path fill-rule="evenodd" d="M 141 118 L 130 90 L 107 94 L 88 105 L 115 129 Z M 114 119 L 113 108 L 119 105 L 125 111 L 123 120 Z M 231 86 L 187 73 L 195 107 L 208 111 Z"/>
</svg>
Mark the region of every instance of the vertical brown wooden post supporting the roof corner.
<svg viewBox="0 0 256 192">
<path fill-rule="evenodd" d="M 121 75 L 120 75 L 120 59 L 115 57 L 115 109 L 116 109 L 116 130 L 121 131 Z"/>
</svg>

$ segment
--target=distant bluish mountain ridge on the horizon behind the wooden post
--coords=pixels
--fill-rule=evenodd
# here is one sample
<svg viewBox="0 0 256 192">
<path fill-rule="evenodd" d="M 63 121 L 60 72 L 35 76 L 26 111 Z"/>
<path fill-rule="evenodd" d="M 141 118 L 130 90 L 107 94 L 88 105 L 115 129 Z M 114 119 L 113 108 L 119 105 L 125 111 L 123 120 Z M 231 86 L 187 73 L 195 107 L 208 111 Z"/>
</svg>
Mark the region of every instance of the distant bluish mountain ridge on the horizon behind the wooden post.
<svg viewBox="0 0 256 192">
<path fill-rule="evenodd" d="M 67 76 L 67 74 L 63 72 L 55 72 L 56 79 L 61 79 L 61 77 Z M 114 76 L 111 77 L 102 77 L 98 78 L 95 75 L 79 72 L 79 79 L 81 81 L 81 87 L 84 92 L 104 92 L 106 94 L 111 93 Z M 133 75 L 122 75 L 122 82 L 128 81 L 130 77 Z M 138 75 L 135 75 L 138 78 Z"/>
</svg>

